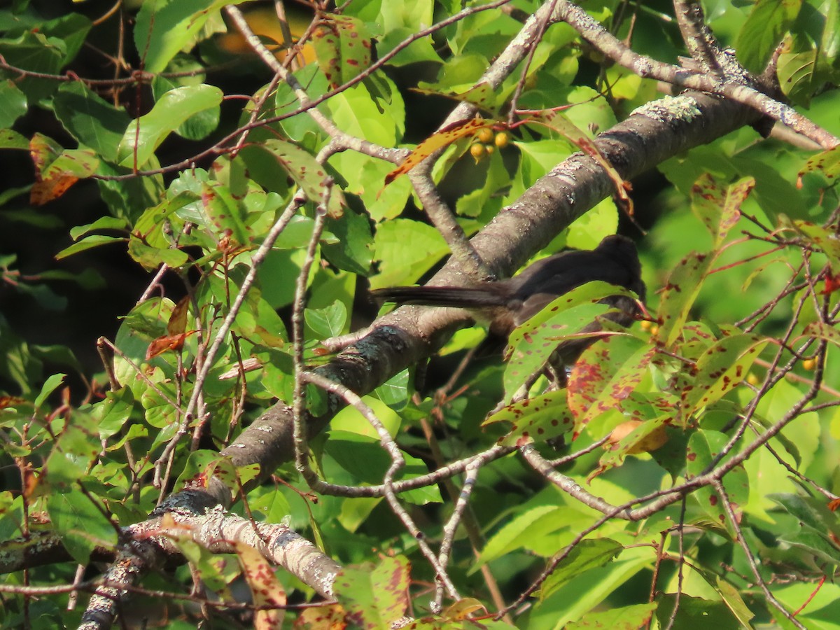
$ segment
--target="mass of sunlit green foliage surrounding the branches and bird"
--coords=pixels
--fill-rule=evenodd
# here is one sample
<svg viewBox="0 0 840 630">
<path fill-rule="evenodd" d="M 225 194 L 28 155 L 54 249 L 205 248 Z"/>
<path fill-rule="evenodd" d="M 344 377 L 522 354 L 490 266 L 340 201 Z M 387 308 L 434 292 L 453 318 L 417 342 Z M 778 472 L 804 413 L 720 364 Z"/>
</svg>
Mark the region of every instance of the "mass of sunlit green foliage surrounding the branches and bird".
<svg viewBox="0 0 840 630">
<path fill-rule="evenodd" d="M 307 277 L 307 365 L 328 360 L 318 351 L 321 340 L 375 318 L 368 287 L 422 282 L 449 255 L 410 178 L 386 186 L 394 164 L 354 150 L 321 153 L 328 160 L 318 164 L 330 134 L 300 111 L 291 87 L 270 82 L 272 72 L 262 60 L 223 39 L 233 30 L 223 17 L 225 4 L 230 3 L 146 0 L 123 3 L 107 14 L 110 4 L 96 0 L 16 0 L 0 9 L 0 155 L 7 173 L 0 193 L 0 538 L 28 538 L 41 528 L 58 533 L 69 554 L 31 568 L 25 577 L 19 570 L 8 572 L 5 585 L 70 584 L 76 564 L 88 564 L 99 550 L 118 543 L 115 524 L 144 521 L 161 496 L 212 465 L 218 450 L 270 404 L 277 399 L 291 404 L 291 305 L 325 175 L 336 185 Z M 265 3 L 241 4 L 247 14 Z M 661 97 L 655 81 L 605 62 L 565 24 L 546 31 L 527 70 L 520 67 L 496 90 L 476 86 L 522 28 L 517 12 L 527 17 L 539 3 L 511 4 L 514 12 L 471 13 L 398 48 L 457 13 L 461 3 L 349 3 L 343 15 L 351 19 L 339 29 L 345 38 L 339 48 L 321 42 L 314 51 L 318 63 L 294 74 L 311 99 L 331 94 L 317 106 L 323 117 L 345 134 L 386 149 L 413 148 L 428 138 L 458 99 L 480 105 L 488 120 L 504 119 L 521 79 L 519 108 L 570 106 L 564 115 L 591 137 Z M 630 36 L 641 54 L 671 63 L 685 55 L 670 3 L 582 4 L 619 38 Z M 784 40 L 778 59 L 784 96 L 812 121 L 840 134 L 837 3 L 703 4 L 708 24 L 751 71 L 761 71 Z M 296 19 L 307 24 L 306 10 L 288 10 L 302 11 Z M 373 40 L 375 58 L 386 63 L 335 91 L 331 81 L 343 84 L 358 76 L 359 63 L 348 60 L 365 62 L 348 48 L 349 33 Z M 245 129 L 247 139 L 232 151 Z M 475 234 L 577 150 L 544 125 L 504 133 L 510 142 L 493 144 L 480 159 L 470 155 L 477 140 L 467 137 L 449 145 L 434 165 L 438 190 L 465 234 Z M 660 164 L 658 173 L 634 182 L 635 222 L 646 234 L 607 199 L 537 254 L 564 246 L 591 249 L 619 228 L 633 234 L 649 287 L 648 307 L 663 318 L 659 330 L 635 325 L 585 355 L 590 362 L 585 365 L 596 363 L 595 350 L 606 345 L 612 358 L 597 364 L 606 372 L 601 384 L 633 391 L 626 399 L 602 400 L 587 422 L 581 414 L 591 401 L 574 396 L 593 392 L 585 391 L 586 384 L 575 390 L 573 372 L 568 398 L 539 391 L 542 381 L 533 391 L 549 405 L 545 417 L 511 427 L 507 421 L 516 415 L 502 412 L 482 426 L 496 403 L 522 384 L 522 373 L 527 375 L 516 360 L 507 367 L 480 360 L 460 376 L 463 391 L 433 396 L 464 350 L 478 343 L 475 329 L 454 335 L 433 360 L 420 391 L 415 370 L 407 370 L 365 396 L 403 451 L 404 478 L 433 469 L 438 458 L 438 464 L 462 459 L 496 440 L 521 444 L 523 430 L 533 434 L 562 414 L 572 420 L 555 433 L 567 433 L 567 450 L 594 443 L 626 417 L 641 419 L 645 428 L 620 448 L 596 449 L 560 468 L 592 496 L 619 505 L 701 475 L 730 440 L 726 452 L 737 456 L 753 431 L 796 410 L 815 379 L 822 382 L 822 390 L 807 397 L 766 448 L 727 472 L 722 487 L 736 519 L 722 505 L 722 495 L 706 486 L 642 521 L 606 520 L 529 600 L 517 627 L 638 627 L 648 621 L 665 627 L 677 592 L 673 627 L 790 626 L 757 585 L 744 548 L 757 558 L 781 606 L 793 612 L 806 605 L 797 615 L 802 624 L 837 627 L 840 593 L 833 579 L 840 523 L 827 507 L 840 491 L 840 366 L 832 361 L 837 298 L 821 292 L 827 271 L 840 274 L 837 168 L 832 153 L 808 163 L 814 154 L 739 129 L 676 155 Z M 183 420 L 207 346 L 255 265 L 260 244 L 299 190 L 305 202 L 259 261 L 255 284 L 206 368 L 204 424 L 194 438 L 191 425 L 181 440 L 169 487 L 155 488 L 155 460 Z M 727 218 L 734 221 L 722 228 Z M 747 233 L 761 238 L 744 238 Z M 658 292 L 675 284 L 696 294 Z M 601 295 L 583 294 L 581 303 L 591 308 L 588 302 Z M 189 333 L 183 348 L 149 356 L 155 339 L 176 336 L 172 313 L 185 296 L 188 315 L 181 332 Z M 765 304 L 771 305 L 766 314 L 750 318 Z M 110 384 L 95 351 L 100 335 L 113 343 L 101 344 L 113 362 Z M 664 351 L 655 354 L 654 346 Z M 777 354 L 780 347 L 795 352 Z M 769 365 L 776 357 L 787 375 L 771 382 Z M 255 360 L 256 369 L 239 371 L 245 360 Z M 226 373 L 233 377 L 221 378 Z M 598 383 L 594 388 L 598 395 Z M 318 396 L 309 404 L 317 412 Z M 679 411 L 663 414 L 662 407 Z M 750 422 L 742 427 L 746 437 L 738 439 L 743 417 Z M 669 431 L 664 449 L 630 453 L 643 434 L 663 424 Z M 433 445 L 424 427 L 433 433 Z M 573 443 L 572 428 L 580 433 Z M 538 448 L 546 457 L 556 456 L 543 442 Z M 313 438 L 312 453 L 317 470 L 334 484 L 381 483 L 390 464 L 374 429 L 350 407 L 333 418 L 328 432 Z M 593 475 L 596 470 L 601 474 Z M 249 515 L 287 522 L 341 564 L 381 567 L 381 554 L 408 559 L 410 614 L 428 614 L 433 570 L 386 501 L 343 496 L 310 501 L 302 496 L 308 488 L 294 465 L 283 465 L 276 475 L 291 486 L 268 483 L 249 492 Z M 424 537 L 438 541 L 453 507 L 447 492 L 432 485 L 401 498 Z M 502 599 L 510 603 L 548 559 L 576 543 L 602 516 L 547 483 L 516 454 L 481 468 L 470 509 L 484 545 L 475 550 L 476 558 L 459 533 L 449 572 L 462 596 L 492 611 L 496 606 L 480 566 L 489 565 Z M 233 511 L 245 514 L 243 502 Z M 685 523 L 681 542 L 672 529 L 679 523 Z M 229 559 L 221 569 L 209 560 L 194 564 L 207 583 L 221 585 L 239 572 Z M 407 564 L 400 566 L 407 570 Z M 310 586 L 282 570 L 276 575 L 294 593 L 291 601 L 312 596 Z M 390 575 L 382 570 L 372 578 L 370 592 L 387 590 Z M 167 591 L 189 584 L 186 566 L 144 580 L 148 589 Z M 366 592 L 340 591 L 339 601 L 347 610 L 357 606 L 359 614 L 372 614 L 377 602 Z M 3 596 L 3 627 L 17 627 L 24 618 L 72 626 L 81 616 L 78 609 L 63 610 L 66 594 L 37 601 Z M 176 600 L 139 599 L 151 602 L 144 614 L 166 614 L 170 627 L 194 627 L 199 617 Z M 225 612 L 210 614 L 219 624 L 228 619 Z M 453 618 L 444 613 L 434 623 L 454 627 Z"/>
</svg>

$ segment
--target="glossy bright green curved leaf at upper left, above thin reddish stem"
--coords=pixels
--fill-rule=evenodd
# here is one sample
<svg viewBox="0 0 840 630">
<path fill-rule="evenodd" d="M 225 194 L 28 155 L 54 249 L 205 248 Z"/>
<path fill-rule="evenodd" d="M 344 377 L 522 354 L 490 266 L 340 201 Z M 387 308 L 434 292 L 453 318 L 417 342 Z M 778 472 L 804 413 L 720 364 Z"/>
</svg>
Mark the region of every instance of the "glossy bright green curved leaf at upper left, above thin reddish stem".
<svg viewBox="0 0 840 630">
<path fill-rule="evenodd" d="M 150 113 L 129 123 L 117 147 L 119 164 L 136 168 L 143 166 L 166 136 L 194 114 L 218 108 L 222 96 L 218 87 L 206 84 L 177 87 L 166 92 L 155 102 Z"/>
</svg>

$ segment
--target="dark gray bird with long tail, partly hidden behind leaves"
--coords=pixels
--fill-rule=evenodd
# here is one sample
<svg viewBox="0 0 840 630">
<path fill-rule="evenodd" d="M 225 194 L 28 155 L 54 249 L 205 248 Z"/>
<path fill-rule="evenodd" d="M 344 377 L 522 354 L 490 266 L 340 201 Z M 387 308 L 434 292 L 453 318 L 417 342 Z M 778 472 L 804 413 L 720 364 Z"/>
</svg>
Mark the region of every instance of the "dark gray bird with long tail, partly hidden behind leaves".
<svg viewBox="0 0 840 630">
<path fill-rule="evenodd" d="M 564 251 L 543 258 L 509 280 L 475 286 L 393 286 L 372 293 L 382 302 L 466 308 L 475 313 L 476 319 L 490 323 L 492 335 L 507 338 L 513 328 L 555 298 L 596 280 L 624 286 L 644 301 L 642 265 L 632 240 L 617 234 L 607 236 L 596 249 Z M 629 326 L 641 314 L 638 304 L 628 297 L 607 297 L 603 302 L 617 308 L 606 318 L 622 326 Z M 581 332 L 596 330 L 600 327 L 592 323 Z M 559 356 L 569 365 L 593 341 L 567 341 L 559 346 Z"/>
</svg>

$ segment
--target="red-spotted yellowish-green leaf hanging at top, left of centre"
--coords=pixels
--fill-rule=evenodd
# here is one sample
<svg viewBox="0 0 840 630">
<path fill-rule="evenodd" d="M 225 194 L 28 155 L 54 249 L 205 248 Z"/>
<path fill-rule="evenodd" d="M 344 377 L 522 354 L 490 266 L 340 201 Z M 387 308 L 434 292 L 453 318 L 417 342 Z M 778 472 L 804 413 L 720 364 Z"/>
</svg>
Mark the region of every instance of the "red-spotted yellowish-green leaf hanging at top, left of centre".
<svg viewBox="0 0 840 630">
<path fill-rule="evenodd" d="M 359 18 L 325 13 L 312 34 L 312 46 L 333 89 L 370 67 L 370 32 Z"/>
</svg>

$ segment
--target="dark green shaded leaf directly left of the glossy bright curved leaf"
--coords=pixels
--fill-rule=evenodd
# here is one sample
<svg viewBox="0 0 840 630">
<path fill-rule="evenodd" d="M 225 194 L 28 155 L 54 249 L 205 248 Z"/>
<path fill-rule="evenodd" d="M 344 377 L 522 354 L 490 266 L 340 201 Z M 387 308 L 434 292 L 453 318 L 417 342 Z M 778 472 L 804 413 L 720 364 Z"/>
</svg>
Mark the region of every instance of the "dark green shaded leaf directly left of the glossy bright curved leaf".
<svg viewBox="0 0 840 630">
<path fill-rule="evenodd" d="M 55 117 L 81 144 L 105 160 L 117 161 L 117 147 L 130 118 L 113 107 L 81 81 L 62 85 L 53 99 Z"/>
</svg>

